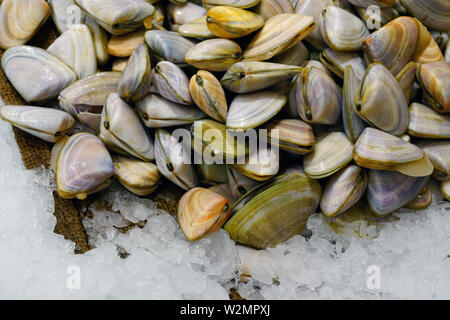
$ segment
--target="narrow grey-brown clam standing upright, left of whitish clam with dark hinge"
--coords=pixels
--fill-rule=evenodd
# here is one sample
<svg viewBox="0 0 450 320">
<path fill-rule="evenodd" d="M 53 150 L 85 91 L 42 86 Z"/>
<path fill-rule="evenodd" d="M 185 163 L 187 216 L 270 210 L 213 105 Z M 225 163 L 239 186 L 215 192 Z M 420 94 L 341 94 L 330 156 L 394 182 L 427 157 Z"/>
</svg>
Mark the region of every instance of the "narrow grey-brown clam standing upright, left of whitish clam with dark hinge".
<svg viewBox="0 0 450 320">
<path fill-rule="evenodd" d="M 152 66 L 147 45 L 141 43 L 131 55 L 119 82 L 119 95 L 127 101 L 142 100 L 150 91 Z"/>
</svg>

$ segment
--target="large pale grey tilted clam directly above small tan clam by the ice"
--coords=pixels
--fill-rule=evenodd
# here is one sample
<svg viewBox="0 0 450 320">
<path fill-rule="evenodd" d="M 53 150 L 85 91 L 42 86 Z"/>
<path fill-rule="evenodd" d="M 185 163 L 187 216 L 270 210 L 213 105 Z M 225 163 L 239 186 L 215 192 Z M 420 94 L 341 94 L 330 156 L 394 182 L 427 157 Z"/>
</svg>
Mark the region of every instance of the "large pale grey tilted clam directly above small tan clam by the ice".
<svg viewBox="0 0 450 320">
<path fill-rule="evenodd" d="M 112 150 L 144 161 L 155 159 L 153 142 L 134 110 L 117 93 L 108 95 L 102 111 L 100 139 Z"/>
</svg>

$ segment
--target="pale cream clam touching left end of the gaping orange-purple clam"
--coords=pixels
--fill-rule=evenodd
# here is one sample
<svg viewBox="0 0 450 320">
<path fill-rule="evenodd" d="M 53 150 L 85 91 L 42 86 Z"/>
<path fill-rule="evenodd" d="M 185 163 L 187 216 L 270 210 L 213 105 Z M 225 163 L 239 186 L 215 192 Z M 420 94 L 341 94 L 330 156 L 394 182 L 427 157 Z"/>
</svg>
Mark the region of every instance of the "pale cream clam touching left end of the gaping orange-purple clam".
<svg viewBox="0 0 450 320">
<path fill-rule="evenodd" d="M 313 152 L 303 158 L 305 173 L 313 179 L 331 176 L 353 158 L 353 143 L 342 132 L 330 132 L 318 138 Z"/>
</svg>

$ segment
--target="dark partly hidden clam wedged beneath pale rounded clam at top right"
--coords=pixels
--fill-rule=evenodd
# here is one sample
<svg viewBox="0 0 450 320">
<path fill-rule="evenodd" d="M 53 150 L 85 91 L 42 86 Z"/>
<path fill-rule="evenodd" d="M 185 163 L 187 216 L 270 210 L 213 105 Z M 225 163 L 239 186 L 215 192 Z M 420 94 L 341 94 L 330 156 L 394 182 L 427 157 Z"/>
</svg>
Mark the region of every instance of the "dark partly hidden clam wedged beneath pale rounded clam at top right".
<svg viewBox="0 0 450 320">
<path fill-rule="evenodd" d="M 355 52 L 334 51 L 327 48 L 320 53 L 320 61 L 328 70 L 338 77 L 344 79 L 344 72 L 347 66 L 351 66 L 355 76 L 361 80 L 366 72 L 366 64 L 363 58 Z"/>
</svg>

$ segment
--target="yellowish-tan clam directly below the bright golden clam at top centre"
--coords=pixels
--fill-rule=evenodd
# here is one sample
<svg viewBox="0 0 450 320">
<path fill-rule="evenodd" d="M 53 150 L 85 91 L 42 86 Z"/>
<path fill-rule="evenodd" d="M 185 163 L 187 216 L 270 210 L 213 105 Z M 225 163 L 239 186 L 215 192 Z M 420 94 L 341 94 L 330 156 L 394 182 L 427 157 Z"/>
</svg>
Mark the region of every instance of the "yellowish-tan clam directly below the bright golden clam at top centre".
<svg viewBox="0 0 450 320">
<path fill-rule="evenodd" d="M 191 48 L 184 58 L 187 63 L 197 69 L 208 71 L 226 71 L 241 59 L 241 47 L 229 39 L 202 41 Z"/>
</svg>

